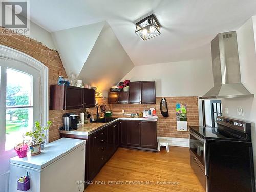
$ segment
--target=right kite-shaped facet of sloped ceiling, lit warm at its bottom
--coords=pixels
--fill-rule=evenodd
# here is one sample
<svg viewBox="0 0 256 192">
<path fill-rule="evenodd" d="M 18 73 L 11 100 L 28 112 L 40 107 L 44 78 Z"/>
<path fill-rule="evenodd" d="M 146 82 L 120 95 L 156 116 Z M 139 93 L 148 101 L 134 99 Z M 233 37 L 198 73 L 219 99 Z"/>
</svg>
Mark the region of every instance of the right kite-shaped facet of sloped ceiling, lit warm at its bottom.
<svg viewBox="0 0 256 192">
<path fill-rule="evenodd" d="M 115 33 L 105 22 L 79 73 L 79 79 L 91 86 L 96 86 L 97 91 L 107 96 L 109 88 L 118 83 L 133 67 L 133 62 Z"/>
</svg>

